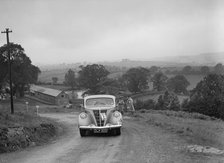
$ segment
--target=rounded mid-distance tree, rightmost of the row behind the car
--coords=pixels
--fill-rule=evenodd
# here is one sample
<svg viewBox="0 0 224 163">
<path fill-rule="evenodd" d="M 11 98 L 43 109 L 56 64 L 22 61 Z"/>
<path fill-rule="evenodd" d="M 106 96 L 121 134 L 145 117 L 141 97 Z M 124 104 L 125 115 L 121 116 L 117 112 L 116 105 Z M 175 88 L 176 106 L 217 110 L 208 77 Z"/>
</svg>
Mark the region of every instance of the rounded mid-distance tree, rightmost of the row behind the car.
<svg viewBox="0 0 224 163">
<path fill-rule="evenodd" d="M 187 87 L 190 85 L 183 75 L 176 75 L 167 80 L 167 88 L 175 93 L 187 93 Z"/>
</svg>

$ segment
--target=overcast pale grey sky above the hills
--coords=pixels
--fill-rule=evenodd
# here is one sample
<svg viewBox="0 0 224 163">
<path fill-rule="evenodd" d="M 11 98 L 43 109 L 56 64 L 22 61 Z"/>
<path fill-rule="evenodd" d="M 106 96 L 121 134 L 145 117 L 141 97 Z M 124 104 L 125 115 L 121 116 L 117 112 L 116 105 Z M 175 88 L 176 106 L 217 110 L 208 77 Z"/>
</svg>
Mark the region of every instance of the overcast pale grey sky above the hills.
<svg viewBox="0 0 224 163">
<path fill-rule="evenodd" d="M 34 64 L 224 52 L 224 1 L 0 0 L 5 28 Z"/>
</svg>

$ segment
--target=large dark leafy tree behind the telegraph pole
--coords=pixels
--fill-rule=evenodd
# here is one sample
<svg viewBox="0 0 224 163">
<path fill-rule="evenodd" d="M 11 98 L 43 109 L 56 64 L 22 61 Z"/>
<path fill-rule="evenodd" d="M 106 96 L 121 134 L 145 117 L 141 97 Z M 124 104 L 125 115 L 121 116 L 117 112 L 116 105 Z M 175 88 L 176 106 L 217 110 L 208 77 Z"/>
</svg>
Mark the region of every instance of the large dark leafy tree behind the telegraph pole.
<svg viewBox="0 0 224 163">
<path fill-rule="evenodd" d="M 8 68 L 7 49 L 7 45 L 0 47 L 0 58 L 3 63 L 1 66 L 4 67 L 4 69 Z M 25 87 L 37 82 L 40 69 L 32 64 L 30 58 L 26 56 L 21 45 L 10 43 L 9 51 L 11 54 L 12 83 L 15 89 L 14 91 L 22 97 L 24 96 Z M 6 70 L 1 69 L 0 71 L 4 72 Z M 7 76 L 3 78 L 1 77 L 1 79 L 5 79 L 6 82 L 8 82 L 8 76 L 7 71 Z"/>
</svg>

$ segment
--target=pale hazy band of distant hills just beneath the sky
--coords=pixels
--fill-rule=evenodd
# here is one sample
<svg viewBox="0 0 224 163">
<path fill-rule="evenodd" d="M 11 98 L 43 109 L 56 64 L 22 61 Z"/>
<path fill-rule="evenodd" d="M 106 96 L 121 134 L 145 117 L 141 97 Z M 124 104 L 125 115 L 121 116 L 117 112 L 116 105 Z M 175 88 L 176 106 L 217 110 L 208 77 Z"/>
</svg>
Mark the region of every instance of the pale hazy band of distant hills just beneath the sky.
<svg viewBox="0 0 224 163">
<path fill-rule="evenodd" d="M 203 53 L 199 55 L 187 55 L 187 56 L 169 56 L 158 58 L 157 61 L 141 61 L 141 60 L 130 60 L 123 59 L 122 61 L 105 61 L 105 62 L 96 62 L 97 64 L 107 65 L 107 66 L 117 66 L 117 67 L 184 67 L 186 65 L 190 66 L 215 66 L 217 63 L 224 64 L 224 52 L 219 53 Z M 72 64 L 54 64 L 54 65 L 40 65 L 41 71 L 49 71 L 55 69 L 75 69 L 80 65 L 87 65 L 94 63 L 72 63 Z"/>
</svg>

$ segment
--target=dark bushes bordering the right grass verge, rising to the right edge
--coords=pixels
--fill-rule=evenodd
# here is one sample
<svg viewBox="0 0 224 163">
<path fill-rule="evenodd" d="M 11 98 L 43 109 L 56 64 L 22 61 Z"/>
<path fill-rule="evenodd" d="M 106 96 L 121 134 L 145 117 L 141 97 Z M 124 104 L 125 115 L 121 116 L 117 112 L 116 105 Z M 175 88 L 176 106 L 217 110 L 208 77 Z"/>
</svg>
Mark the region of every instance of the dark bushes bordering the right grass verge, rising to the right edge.
<svg viewBox="0 0 224 163">
<path fill-rule="evenodd" d="M 153 103 L 150 107 L 146 102 L 136 104 L 137 109 L 182 110 L 224 120 L 224 75 L 209 74 L 204 77 L 181 106 L 177 95 L 168 91 L 160 95 L 156 104 Z"/>
</svg>

